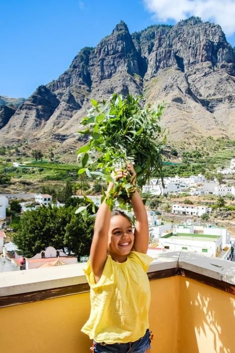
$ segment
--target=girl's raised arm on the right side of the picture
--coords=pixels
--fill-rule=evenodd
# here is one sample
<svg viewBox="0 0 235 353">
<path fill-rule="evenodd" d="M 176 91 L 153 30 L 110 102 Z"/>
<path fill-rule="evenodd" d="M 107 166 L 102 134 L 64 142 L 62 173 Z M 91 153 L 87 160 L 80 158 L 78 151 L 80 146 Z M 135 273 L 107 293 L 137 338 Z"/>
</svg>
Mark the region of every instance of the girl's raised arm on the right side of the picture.
<svg viewBox="0 0 235 353">
<path fill-rule="evenodd" d="M 135 184 L 136 173 L 134 167 L 132 164 L 128 164 L 127 168 L 133 175 L 132 184 Z M 131 204 L 136 218 L 133 250 L 146 254 L 149 241 L 148 219 L 145 206 L 137 190 L 134 193 Z"/>
</svg>

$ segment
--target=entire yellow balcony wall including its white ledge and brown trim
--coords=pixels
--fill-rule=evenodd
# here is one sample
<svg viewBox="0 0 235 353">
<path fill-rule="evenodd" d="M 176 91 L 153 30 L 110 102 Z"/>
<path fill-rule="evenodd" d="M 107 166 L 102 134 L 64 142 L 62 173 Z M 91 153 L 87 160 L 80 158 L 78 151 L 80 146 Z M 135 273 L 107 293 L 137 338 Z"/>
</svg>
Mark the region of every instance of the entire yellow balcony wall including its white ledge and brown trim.
<svg viewBox="0 0 235 353">
<path fill-rule="evenodd" d="M 82 267 L 0 274 L 1 351 L 90 351 L 80 331 L 90 312 Z M 152 353 L 235 352 L 234 263 L 173 252 L 158 255 L 148 275 Z"/>
</svg>

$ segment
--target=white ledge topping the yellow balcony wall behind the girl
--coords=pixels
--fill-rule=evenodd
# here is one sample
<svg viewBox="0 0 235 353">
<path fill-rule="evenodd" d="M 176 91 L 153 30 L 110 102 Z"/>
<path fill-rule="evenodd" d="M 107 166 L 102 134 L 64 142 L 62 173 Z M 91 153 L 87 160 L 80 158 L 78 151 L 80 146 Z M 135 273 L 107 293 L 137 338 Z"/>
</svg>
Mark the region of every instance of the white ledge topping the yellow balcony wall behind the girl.
<svg viewBox="0 0 235 353">
<path fill-rule="evenodd" d="M 0 297 L 87 283 L 85 264 L 0 273 Z M 235 285 L 235 263 L 193 252 L 156 254 L 148 272 L 183 268 Z"/>
</svg>

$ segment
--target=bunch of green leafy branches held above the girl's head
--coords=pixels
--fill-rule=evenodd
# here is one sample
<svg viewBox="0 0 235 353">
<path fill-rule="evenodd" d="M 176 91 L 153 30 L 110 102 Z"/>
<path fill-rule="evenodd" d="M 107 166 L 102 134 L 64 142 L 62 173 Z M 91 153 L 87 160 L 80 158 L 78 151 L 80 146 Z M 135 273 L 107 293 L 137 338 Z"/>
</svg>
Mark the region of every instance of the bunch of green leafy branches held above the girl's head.
<svg viewBox="0 0 235 353">
<path fill-rule="evenodd" d="M 135 192 L 131 175 L 114 181 L 111 172 L 126 170 L 127 164 L 132 163 L 140 189 L 151 175 L 163 176 L 161 150 L 166 135 L 160 119 L 165 104 L 142 107 L 140 98 L 131 95 L 123 98 L 117 94 L 113 94 L 109 103 L 91 102 L 92 108 L 81 121 L 86 129 L 79 131 L 82 135 L 89 134 L 90 140 L 77 151 L 83 166 L 78 173 L 86 172 L 88 177 L 97 175 L 106 182 L 112 181 L 114 188 L 109 192 L 107 204 L 111 209 L 118 206 L 129 210 Z"/>
</svg>

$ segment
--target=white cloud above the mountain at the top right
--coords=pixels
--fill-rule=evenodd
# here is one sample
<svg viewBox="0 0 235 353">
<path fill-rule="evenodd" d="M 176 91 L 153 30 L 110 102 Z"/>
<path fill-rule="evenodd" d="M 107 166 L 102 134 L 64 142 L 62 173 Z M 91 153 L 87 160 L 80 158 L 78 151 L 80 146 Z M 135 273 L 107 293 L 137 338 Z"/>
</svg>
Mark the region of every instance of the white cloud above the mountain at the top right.
<svg viewBox="0 0 235 353">
<path fill-rule="evenodd" d="M 227 36 L 235 32 L 235 0 L 143 0 L 159 21 L 180 21 L 199 16 L 222 27 Z"/>
</svg>

